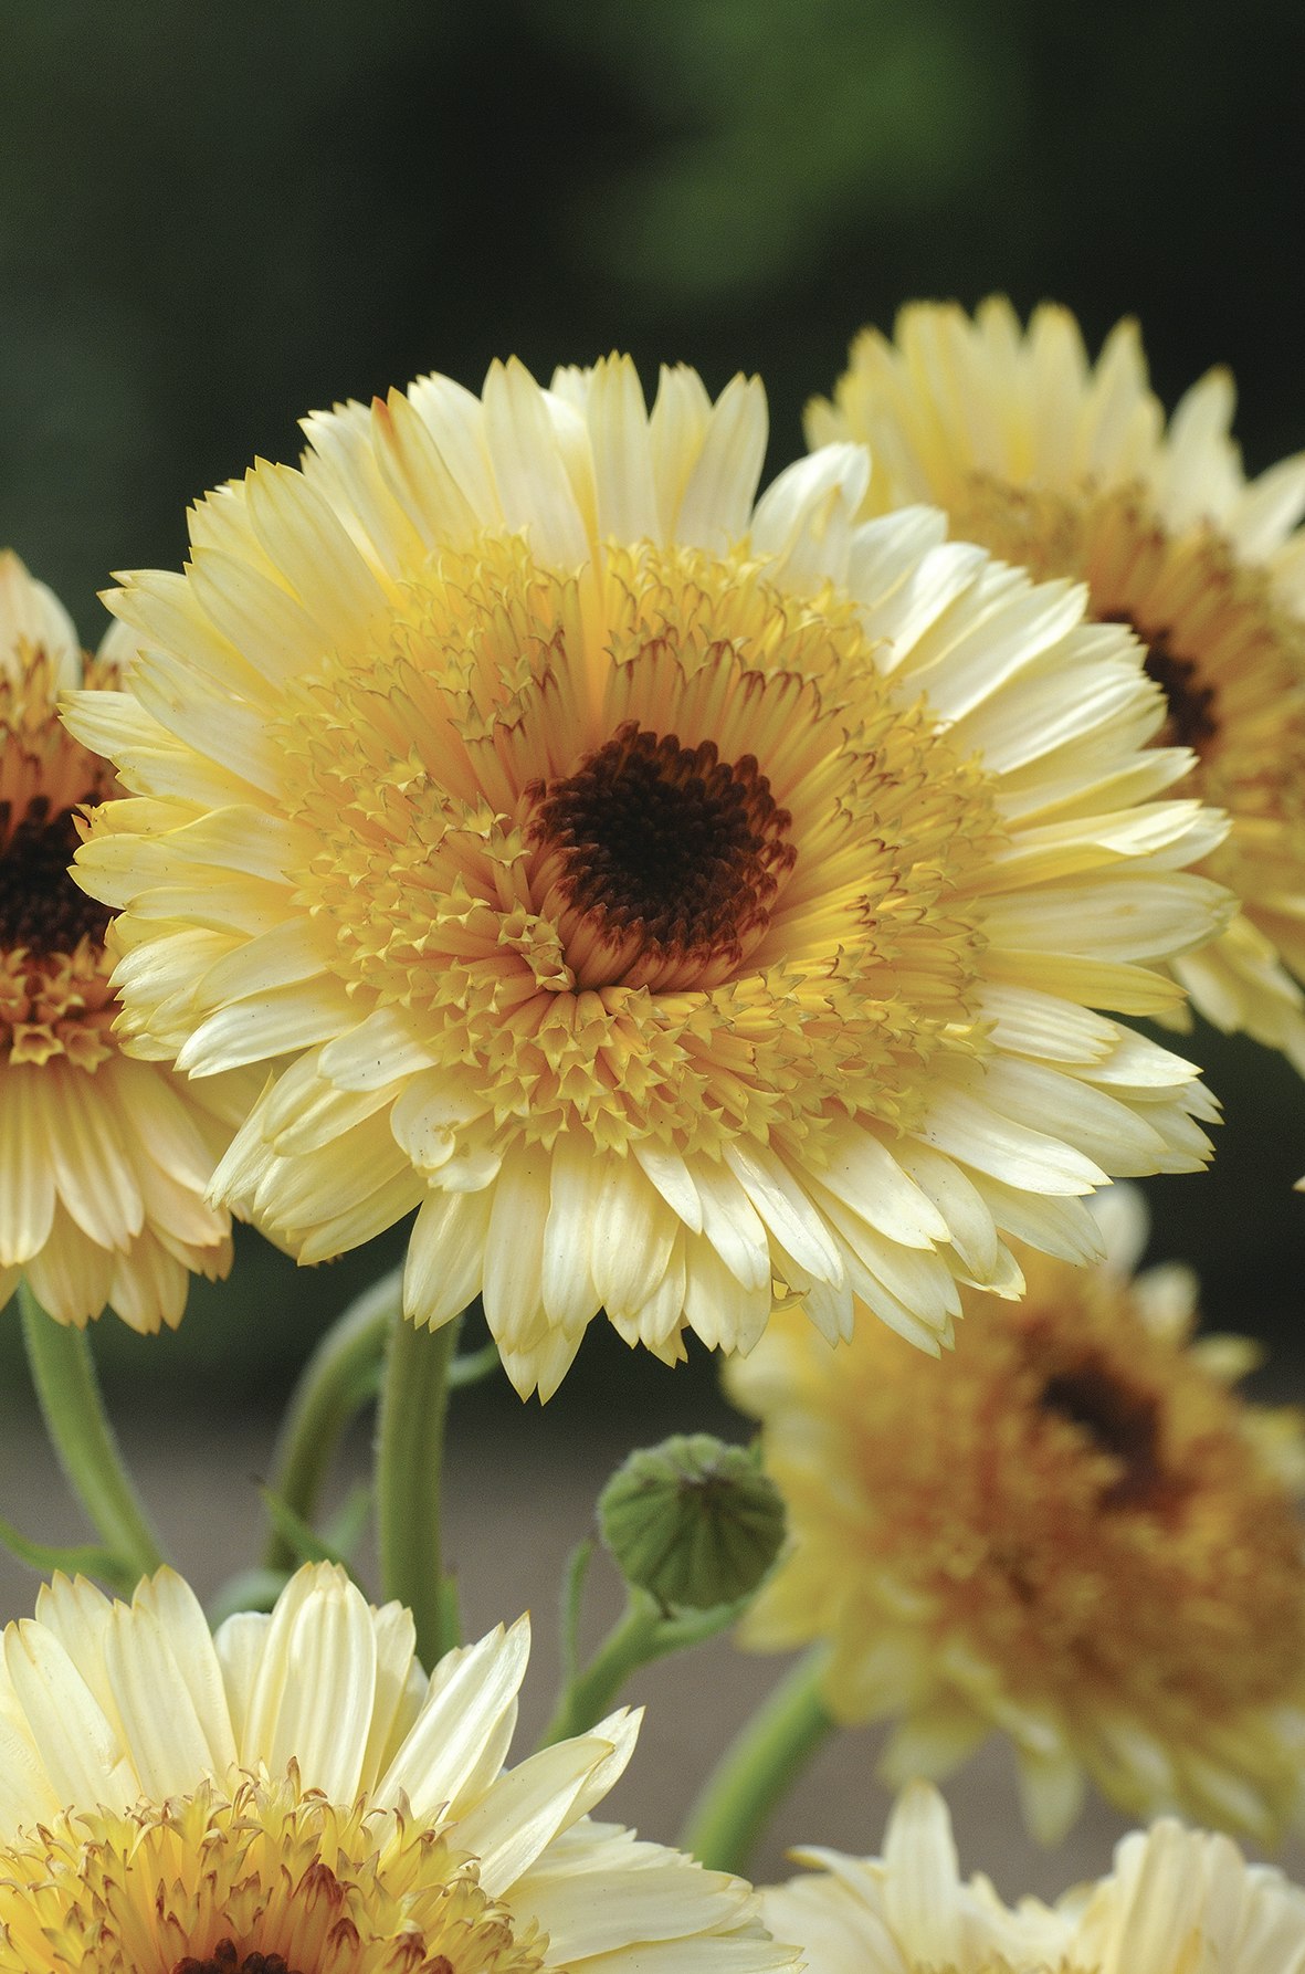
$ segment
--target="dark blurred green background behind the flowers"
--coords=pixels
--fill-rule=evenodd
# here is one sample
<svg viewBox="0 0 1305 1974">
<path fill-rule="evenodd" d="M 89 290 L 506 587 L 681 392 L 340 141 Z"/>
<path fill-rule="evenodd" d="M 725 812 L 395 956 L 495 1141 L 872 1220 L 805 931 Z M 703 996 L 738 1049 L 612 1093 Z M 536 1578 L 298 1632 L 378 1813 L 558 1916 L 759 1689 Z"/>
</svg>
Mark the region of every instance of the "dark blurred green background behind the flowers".
<svg viewBox="0 0 1305 1974">
<path fill-rule="evenodd" d="M 300 413 L 513 349 L 758 369 L 774 470 L 859 324 L 993 288 L 1094 343 L 1137 314 L 1169 401 L 1232 363 L 1266 466 L 1305 446 L 1303 67 L 1295 4 L 0 0 L 0 541 L 95 642 L 109 570 L 176 567 L 186 503 L 292 458 Z M 1153 1252 L 1289 1348 L 1305 1086 L 1196 1048 L 1228 1123 L 1151 1188 Z M 375 1267 L 251 1238 L 178 1338 L 107 1323 L 101 1356 L 270 1400 Z M 594 1336 L 559 1404 L 630 1370 Z M 640 1366 L 640 1405 L 695 1376 Z"/>
</svg>

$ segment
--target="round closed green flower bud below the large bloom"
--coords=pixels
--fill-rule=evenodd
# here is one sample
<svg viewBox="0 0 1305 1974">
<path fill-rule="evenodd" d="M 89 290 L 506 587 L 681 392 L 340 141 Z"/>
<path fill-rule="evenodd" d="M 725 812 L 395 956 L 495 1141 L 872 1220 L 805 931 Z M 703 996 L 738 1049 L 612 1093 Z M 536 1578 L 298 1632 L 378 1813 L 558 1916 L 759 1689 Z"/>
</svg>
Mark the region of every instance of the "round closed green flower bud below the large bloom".
<svg viewBox="0 0 1305 1974">
<path fill-rule="evenodd" d="M 616 1469 L 598 1528 L 626 1583 L 669 1611 L 711 1611 L 760 1585 L 784 1544 L 784 1500 L 760 1447 L 675 1435 Z"/>
</svg>

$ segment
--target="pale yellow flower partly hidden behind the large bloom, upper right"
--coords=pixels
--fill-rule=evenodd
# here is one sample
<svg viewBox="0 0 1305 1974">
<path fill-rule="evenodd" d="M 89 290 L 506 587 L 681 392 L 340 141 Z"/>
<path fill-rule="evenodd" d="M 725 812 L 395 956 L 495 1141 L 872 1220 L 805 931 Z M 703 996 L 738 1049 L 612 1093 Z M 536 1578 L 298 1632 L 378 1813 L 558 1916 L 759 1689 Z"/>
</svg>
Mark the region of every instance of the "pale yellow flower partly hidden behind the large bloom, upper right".
<svg viewBox="0 0 1305 1974">
<path fill-rule="evenodd" d="M 1080 576 L 1100 622 L 1131 624 L 1165 693 L 1157 734 L 1194 752 L 1187 790 L 1232 829 L 1202 867 L 1242 906 L 1175 961 L 1194 1007 L 1305 1074 L 1305 454 L 1258 480 L 1214 369 L 1169 424 L 1137 328 L 1096 363 L 1064 308 L 916 304 L 867 330 L 811 444 L 871 448 L 867 511 L 936 501 L 952 533 L 1036 576 Z"/>
</svg>

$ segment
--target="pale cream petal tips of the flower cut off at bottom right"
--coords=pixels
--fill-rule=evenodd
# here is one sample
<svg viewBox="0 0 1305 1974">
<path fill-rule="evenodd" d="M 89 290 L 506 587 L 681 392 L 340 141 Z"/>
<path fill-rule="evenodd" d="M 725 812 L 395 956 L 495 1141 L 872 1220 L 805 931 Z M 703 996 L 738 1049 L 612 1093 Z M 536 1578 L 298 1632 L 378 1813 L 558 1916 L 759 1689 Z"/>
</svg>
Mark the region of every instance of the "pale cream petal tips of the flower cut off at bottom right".
<svg viewBox="0 0 1305 1974">
<path fill-rule="evenodd" d="M 813 1873 L 760 1893 L 807 1974 L 1299 1974 L 1305 1891 L 1236 1844 L 1171 1820 L 1133 1832 L 1113 1871 L 1054 1907 L 1005 1907 L 961 1881 L 942 1796 L 898 1796 L 883 1858 L 800 1850 Z"/>
</svg>

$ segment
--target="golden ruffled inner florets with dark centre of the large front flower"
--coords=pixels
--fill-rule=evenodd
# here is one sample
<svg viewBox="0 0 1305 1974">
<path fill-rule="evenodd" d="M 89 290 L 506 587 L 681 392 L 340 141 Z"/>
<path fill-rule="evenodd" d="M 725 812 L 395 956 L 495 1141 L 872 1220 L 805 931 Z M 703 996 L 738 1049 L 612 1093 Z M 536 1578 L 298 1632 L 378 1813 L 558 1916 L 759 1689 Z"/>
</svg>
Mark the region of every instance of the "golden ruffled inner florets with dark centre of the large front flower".
<svg viewBox="0 0 1305 1974">
<path fill-rule="evenodd" d="M 742 551 L 446 555 L 278 742 L 332 965 L 533 1141 L 910 1125 L 930 1058 L 983 1046 L 989 778 L 851 604 Z"/>
</svg>

